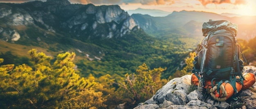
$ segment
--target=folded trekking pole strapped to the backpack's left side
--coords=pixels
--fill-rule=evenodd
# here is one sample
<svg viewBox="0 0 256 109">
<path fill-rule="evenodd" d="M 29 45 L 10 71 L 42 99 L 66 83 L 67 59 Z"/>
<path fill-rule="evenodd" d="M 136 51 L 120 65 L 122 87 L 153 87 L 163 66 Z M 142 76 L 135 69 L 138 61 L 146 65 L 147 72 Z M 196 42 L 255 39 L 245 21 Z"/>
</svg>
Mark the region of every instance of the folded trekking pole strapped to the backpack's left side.
<svg viewBox="0 0 256 109">
<path fill-rule="evenodd" d="M 204 76 L 204 65 L 205 65 L 205 59 L 206 59 L 206 52 L 208 51 L 208 46 L 207 46 L 207 41 L 208 41 L 208 37 L 209 35 L 207 35 L 205 37 L 205 45 L 203 46 L 203 50 L 204 50 L 204 54 L 203 54 L 203 57 L 202 57 L 202 63 L 201 63 L 201 68 L 200 68 L 200 72 L 198 73 L 200 75 L 200 78 L 199 78 L 199 83 L 198 83 L 198 91 L 202 92 L 202 89 L 204 87 L 204 81 L 202 80 L 203 79 L 203 76 Z"/>
</svg>

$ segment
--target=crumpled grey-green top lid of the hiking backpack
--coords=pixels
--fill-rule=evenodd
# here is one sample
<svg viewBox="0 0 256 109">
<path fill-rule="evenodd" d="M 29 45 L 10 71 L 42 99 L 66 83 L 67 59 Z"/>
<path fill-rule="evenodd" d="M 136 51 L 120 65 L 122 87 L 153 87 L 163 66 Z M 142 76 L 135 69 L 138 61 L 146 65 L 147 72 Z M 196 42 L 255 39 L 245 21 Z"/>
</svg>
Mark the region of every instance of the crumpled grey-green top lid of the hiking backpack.
<svg viewBox="0 0 256 109">
<path fill-rule="evenodd" d="M 208 22 L 204 22 L 202 26 L 203 36 L 222 29 L 229 31 L 231 34 L 236 36 L 238 26 L 237 24 L 233 24 L 227 20 L 209 20 Z"/>
</svg>

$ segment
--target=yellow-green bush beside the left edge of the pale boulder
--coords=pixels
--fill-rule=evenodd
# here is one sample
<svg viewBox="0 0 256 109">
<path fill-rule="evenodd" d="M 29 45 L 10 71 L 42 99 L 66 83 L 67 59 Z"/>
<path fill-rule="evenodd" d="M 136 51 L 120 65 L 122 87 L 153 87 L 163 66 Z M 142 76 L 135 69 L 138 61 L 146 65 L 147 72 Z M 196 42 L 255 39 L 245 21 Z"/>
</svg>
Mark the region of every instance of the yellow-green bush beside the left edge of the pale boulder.
<svg viewBox="0 0 256 109">
<path fill-rule="evenodd" d="M 164 70 L 166 68 L 161 67 L 149 70 L 146 63 L 143 63 L 135 74 L 125 74 L 125 78 L 116 82 L 119 85 L 119 99 L 131 107 L 150 99 L 157 89 L 166 83 L 166 80 L 160 78 Z"/>
</svg>

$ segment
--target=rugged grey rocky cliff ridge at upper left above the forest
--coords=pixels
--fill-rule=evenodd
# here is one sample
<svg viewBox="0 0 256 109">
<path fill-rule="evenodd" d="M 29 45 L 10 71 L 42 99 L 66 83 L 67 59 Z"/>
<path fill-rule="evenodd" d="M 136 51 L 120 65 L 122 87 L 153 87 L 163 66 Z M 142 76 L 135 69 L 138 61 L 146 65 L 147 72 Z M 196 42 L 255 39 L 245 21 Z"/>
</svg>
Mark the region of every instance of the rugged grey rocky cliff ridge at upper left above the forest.
<svg viewBox="0 0 256 109">
<path fill-rule="evenodd" d="M 68 0 L 0 3 L 0 23 L 0 34 L 4 34 L 1 39 L 12 39 L 6 33 L 15 29 L 8 27 L 20 25 L 68 33 L 81 40 L 121 37 L 136 26 L 118 5 L 70 4 Z"/>
</svg>

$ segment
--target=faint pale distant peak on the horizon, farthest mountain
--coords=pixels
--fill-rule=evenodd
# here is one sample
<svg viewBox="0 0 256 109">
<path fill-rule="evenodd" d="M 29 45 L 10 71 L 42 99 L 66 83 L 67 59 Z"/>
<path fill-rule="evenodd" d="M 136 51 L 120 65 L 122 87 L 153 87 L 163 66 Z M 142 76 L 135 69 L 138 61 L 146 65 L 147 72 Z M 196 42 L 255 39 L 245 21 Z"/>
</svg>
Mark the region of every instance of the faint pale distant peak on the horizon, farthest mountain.
<svg viewBox="0 0 256 109">
<path fill-rule="evenodd" d="M 172 12 L 166 12 L 166 11 L 162 11 L 162 10 L 156 10 L 156 9 L 135 9 L 135 10 L 127 10 L 127 13 L 129 15 L 132 14 L 142 14 L 142 15 L 150 15 L 153 17 L 164 17 L 167 16 L 169 14 L 171 14 Z"/>
</svg>

